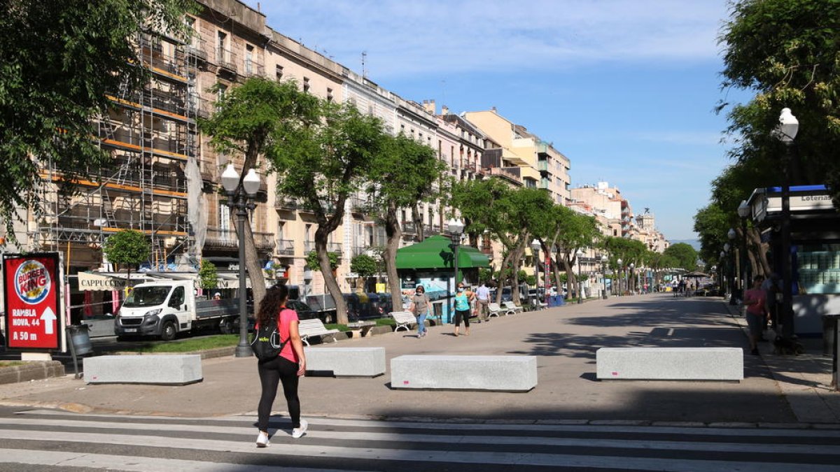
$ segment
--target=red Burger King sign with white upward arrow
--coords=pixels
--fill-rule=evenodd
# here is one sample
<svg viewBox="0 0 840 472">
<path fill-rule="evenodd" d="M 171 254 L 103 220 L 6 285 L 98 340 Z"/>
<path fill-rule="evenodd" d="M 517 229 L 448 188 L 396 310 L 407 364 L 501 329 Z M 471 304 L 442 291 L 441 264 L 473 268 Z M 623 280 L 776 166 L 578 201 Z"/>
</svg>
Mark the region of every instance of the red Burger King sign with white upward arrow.
<svg viewBox="0 0 840 472">
<path fill-rule="evenodd" d="M 3 290 L 8 349 L 59 349 L 61 335 L 57 253 L 6 254 Z"/>
</svg>

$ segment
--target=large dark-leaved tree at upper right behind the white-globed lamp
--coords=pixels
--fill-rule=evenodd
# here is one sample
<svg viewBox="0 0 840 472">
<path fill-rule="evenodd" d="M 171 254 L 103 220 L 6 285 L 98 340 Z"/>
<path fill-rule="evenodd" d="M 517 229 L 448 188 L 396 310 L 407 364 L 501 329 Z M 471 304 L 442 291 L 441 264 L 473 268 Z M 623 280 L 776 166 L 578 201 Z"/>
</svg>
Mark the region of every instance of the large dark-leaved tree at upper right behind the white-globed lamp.
<svg viewBox="0 0 840 472">
<path fill-rule="evenodd" d="M 722 87 L 752 90 L 756 96 L 733 106 L 728 133 L 731 151 L 751 168 L 785 169 L 785 150 L 771 135 L 782 108 L 802 126 L 793 184 L 828 183 L 840 208 L 840 3 L 834 0 L 738 0 L 722 29 L 725 47 Z M 719 110 L 729 107 L 723 102 Z M 775 185 L 781 176 L 775 176 Z M 728 208 L 728 207 L 725 207 Z"/>
</svg>

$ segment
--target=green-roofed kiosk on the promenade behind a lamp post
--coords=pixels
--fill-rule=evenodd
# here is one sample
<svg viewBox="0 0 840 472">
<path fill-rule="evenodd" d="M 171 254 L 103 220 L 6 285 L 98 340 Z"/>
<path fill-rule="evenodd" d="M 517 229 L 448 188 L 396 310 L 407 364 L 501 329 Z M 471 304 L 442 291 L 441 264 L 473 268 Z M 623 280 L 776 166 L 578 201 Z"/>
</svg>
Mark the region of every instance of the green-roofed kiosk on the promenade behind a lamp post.
<svg viewBox="0 0 840 472">
<path fill-rule="evenodd" d="M 454 254 L 452 240 L 432 236 L 422 243 L 396 249 L 396 274 L 405 295 L 412 295 L 418 285 L 426 289 L 432 301 L 432 317 L 438 323 L 450 323 L 454 293 Z M 472 246 L 458 246 L 459 281 L 465 286 L 478 284 L 478 270 L 490 268 L 490 260 Z"/>
</svg>

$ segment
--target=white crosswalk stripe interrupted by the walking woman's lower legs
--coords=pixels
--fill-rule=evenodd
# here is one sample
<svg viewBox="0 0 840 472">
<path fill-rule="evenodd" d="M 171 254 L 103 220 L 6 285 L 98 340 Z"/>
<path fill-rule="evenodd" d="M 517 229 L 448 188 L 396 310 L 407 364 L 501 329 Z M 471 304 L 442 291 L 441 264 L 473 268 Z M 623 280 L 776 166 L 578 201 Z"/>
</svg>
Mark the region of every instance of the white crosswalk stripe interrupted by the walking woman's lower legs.
<svg viewBox="0 0 840 472">
<path fill-rule="evenodd" d="M 179 433 L 227 433 L 231 435 L 254 435 L 254 427 L 218 427 L 200 424 L 178 423 L 115 423 L 91 422 L 77 420 L 48 420 L 8 418 L 0 420 L 0 425 L 42 426 L 50 427 L 85 427 L 100 428 L 117 431 L 134 432 L 179 432 Z M 279 433 L 279 432 L 278 432 Z M 282 437 L 283 433 L 276 434 Z M 822 454 L 840 455 L 840 446 L 815 444 L 775 444 L 775 443 L 717 443 L 717 442 L 687 442 L 667 440 L 631 440 L 631 439 L 593 439 L 593 438 L 544 438 L 539 436 L 475 436 L 475 435 L 432 435 L 417 433 L 363 433 L 363 432 L 332 432 L 310 429 L 310 440 L 318 439 L 346 439 L 348 441 L 387 441 L 396 443 L 456 443 L 456 444 L 507 444 L 524 446 L 560 446 L 601 448 L 606 452 L 611 448 L 670 450 L 670 451 L 703 451 L 717 453 L 744 454 Z"/>
</svg>

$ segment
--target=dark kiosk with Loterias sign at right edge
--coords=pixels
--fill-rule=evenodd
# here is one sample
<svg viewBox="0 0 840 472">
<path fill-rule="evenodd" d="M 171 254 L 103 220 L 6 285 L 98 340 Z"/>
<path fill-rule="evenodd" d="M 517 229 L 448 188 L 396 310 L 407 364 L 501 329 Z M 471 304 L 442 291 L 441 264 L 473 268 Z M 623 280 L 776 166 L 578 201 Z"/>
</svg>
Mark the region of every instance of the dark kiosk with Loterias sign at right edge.
<svg viewBox="0 0 840 472">
<path fill-rule="evenodd" d="M 782 274 L 781 188 L 753 191 L 753 223 L 769 244 L 772 270 Z M 795 333 L 822 334 L 822 315 L 840 314 L 840 212 L 826 186 L 790 187 L 790 258 Z"/>
</svg>

